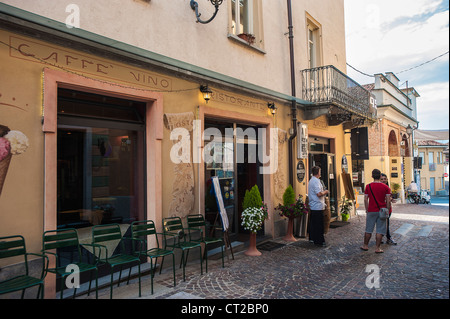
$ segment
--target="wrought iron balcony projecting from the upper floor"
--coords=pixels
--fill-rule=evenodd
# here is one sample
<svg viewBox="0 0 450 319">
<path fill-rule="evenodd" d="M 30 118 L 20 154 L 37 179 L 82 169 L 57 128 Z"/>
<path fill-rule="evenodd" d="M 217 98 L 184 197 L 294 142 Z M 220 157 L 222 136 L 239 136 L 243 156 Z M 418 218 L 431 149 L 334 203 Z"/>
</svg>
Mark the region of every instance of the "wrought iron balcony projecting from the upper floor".
<svg viewBox="0 0 450 319">
<path fill-rule="evenodd" d="M 332 114 L 338 119 L 335 125 L 355 119 L 366 124 L 376 120 L 372 94 L 334 66 L 302 70 L 301 75 L 302 99 L 314 104 L 306 108 L 309 119 Z"/>
</svg>

